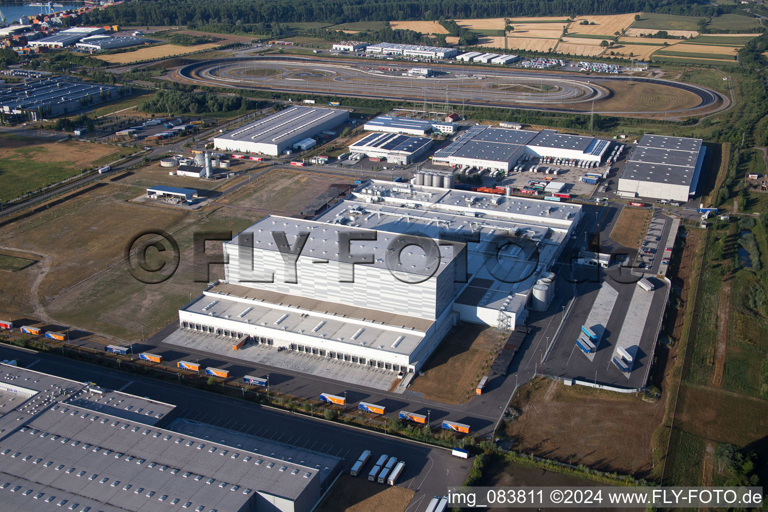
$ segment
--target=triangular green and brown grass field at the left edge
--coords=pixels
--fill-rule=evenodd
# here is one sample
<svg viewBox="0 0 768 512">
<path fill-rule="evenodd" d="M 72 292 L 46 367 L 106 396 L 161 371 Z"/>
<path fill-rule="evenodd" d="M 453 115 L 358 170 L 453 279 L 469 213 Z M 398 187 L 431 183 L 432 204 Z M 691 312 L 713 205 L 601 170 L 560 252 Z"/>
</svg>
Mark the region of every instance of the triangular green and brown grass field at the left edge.
<svg viewBox="0 0 768 512">
<path fill-rule="evenodd" d="M 75 176 L 129 154 L 114 146 L 64 140 L 50 142 L 34 137 L 0 136 L 0 200 Z"/>
</svg>

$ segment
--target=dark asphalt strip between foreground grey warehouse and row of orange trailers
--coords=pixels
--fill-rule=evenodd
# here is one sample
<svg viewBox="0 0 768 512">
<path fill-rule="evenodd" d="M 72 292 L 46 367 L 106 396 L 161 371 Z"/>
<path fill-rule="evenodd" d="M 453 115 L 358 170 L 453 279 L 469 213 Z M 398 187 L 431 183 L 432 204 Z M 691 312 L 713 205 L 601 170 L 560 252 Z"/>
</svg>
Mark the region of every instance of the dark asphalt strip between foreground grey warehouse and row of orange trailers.
<svg viewBox="0 0 768 512">
<path fill-rule="evenodd" d="M 181 418 L 342 457 L 345 471 L 349 471 L 364 450 L 372 451 L 374 460 L 380 454 L 394 455 L 406 461 L 406 471 L 398 485 L 416 493 L 406 512 L 424 510 L 432 496 L 442 496 L 449 485 L 461 484 L 472 466 L 472 459 L 453 457 L 449 450 L 443 448 L 286 413 L 56 355 L 0 344 L 0 357 L 17 359 L 20 365 L 37 372 L 79 382 L 93 381 L 109 389 L 177 405 Z M 371 467 L 369 462 L 366 469 Z M 362 485 L 381 485 L 363 478 L 360 480 Z"/>
</svg>

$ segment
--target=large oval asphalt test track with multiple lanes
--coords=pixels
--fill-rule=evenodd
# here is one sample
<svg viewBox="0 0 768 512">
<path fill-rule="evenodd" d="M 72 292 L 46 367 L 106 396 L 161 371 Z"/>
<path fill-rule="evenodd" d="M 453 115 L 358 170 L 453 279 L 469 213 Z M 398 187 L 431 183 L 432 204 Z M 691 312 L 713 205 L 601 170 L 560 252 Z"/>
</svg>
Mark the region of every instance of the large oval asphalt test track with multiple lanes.
<svg viewBox="0 0 768 512">
<path fill-rule="evenodd" d="M 188 64 L 171 76 L 194 84 L 216 87 L 250 88 L 306 94 L 369 97 L 427 104 L 465 104 L 479 107 L 528 108 L 540 111 L 631 114 L 604 111 L 600 101 L 614 93 L 602 83 L 632 81 L 676 88 L 696 94 L 697 105 L 680 110 L 693 111 L 712 106 L 713 111 L 727 107 L 727 97 L 693 84 L 638 78 L 620 74 L 579 75 L 537 71 L 495 70 L 461 66 L 430 66 L 437 76 L 414 78 L 402 76 L 408 63 L 399 61 L 333 61 L 296 57 L 220 58 Z M 717 105 L 719 102 L 719 105 Z M 717 108 L 716 108 L 717 107 Z M 647 114 L 647 109 L 643 109 Z"/>
</svg>

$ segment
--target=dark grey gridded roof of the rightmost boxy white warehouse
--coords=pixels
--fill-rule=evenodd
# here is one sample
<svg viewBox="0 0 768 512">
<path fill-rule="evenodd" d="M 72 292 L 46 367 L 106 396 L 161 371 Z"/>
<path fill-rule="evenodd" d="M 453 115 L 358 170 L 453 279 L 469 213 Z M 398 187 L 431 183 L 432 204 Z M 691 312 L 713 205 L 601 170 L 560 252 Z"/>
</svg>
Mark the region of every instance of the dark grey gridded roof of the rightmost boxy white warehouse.
<svg viewBox="0 0 768 512">
<path fill-rule="evenodd" d="M 628 158 L 621 179 L 695 188 L 702 160 L 701 139 L 644 135 Z"/>
</svg>

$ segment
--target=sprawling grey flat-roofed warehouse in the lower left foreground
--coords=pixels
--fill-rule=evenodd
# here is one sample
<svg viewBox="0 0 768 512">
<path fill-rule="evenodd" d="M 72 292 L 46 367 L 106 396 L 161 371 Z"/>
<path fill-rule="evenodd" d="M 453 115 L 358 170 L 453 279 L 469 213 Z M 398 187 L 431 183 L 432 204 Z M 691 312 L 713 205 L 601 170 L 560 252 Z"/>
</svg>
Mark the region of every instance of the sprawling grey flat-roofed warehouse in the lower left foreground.
<svg viewBox="0 0 768 512">
<path fill-rule="evenodd" d="M 309 512 L 341 471 L 338 457 L 5 364 L 0 405 L 4 512 Z"/>
</svg>

